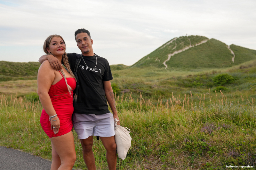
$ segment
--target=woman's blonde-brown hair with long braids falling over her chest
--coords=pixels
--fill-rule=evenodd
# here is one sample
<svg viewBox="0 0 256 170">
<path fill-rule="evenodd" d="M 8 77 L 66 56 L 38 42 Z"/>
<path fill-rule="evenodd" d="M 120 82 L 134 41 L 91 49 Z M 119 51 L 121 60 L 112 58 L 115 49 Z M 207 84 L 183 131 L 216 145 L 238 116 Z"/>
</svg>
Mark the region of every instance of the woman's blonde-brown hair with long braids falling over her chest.
<svg viewBox="0 0 256 170">
<path fill-rule="evenodd" d="M 61 39 L 63 40 L 65 46 L 66 46 L 66 43 L 65 43 L 64 39 L 63 39 L 60 35 L 56 35 L 56 34 L 50 35 L 49 37 L 47 37 L 47 39 L 45 39 L 45 41 L 44 41 L 44 46 L 43 46 L 44 53 L 46 53 L 47 55 L 49 55 L 49 53 L 48 53 L 48 51 L 47 51 L 47 48 L 48 48 L 48 49 L 50 48 L 49 46 L 50 46 L 50 43 L 51 43 L 51 40 L 52 40 L 53 37 L 61 38 Z M 50 54 L 52 54 L 52 53 L 50 53 Z M 52 55 L 53 55 L 53 54 L 52 54 Z M 69 73 L 75 78 L 75 80 L 76 80 L 76 76 L 73 74 L 73 72 L 72 72 L 71 69 L 70 69 L 70 65 L 69 65 L 69 62 L 68 62 L 68 55 L 67 55 L 66 52 L 62 55 L 62 61 L 63 61 L 63 63 L 64 63 L 64 66 L 67 68 L 68 72 L 69 72 Z M 62 69 L 61 69 L 60 71 L 61 71 L 61 73 L 62 73 L 62 75 L 63 75 L 63 77 L 64 77 L 64 79 L 65 79 L 66 85 L 67 85 L 67 87 L 68 87 L 68 92 L 69 92 L 69 94 L 71 95 L 71 90 L 72 90 L 72 88 L 68 85 L 68 82 L 67 82 L 66 75 L 65 75 L 64 71 L 63 71 Z M 76 95 L 75 95 L 75 96 L 76 96 Z M 75 96 L 74 96 L 74 99 L 75 99 Z M 72 97 L 72 96 L 71 96 L 71 97 Z"/>
</svg>

